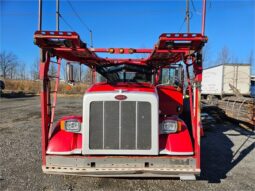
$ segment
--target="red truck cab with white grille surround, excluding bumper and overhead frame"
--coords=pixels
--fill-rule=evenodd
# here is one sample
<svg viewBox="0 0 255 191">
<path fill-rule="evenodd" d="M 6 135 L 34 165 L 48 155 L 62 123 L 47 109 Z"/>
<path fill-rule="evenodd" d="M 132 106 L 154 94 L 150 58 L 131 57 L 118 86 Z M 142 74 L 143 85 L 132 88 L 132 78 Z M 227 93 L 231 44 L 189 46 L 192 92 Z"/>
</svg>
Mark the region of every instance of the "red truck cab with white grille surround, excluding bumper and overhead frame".
<svg viewBox="0 0 255 191">
<path fill-rule="evenodd" d="M 183 108 L 182 65 L 162 68 L 157 83 L 148 68 L 142 73 L 142 67 L 128 70 L 116 66 L 110 72 L 116 68 L 118 72 L 110 80 L 95 74 L 102 82 L 84 94 L 82 116 L 61 119 L 52 129 L 46 152 L 193 155 L 187 126 L 179 117 Z M 69 142 L 64 138 L 67 135 L 73 136 Z"/>
</svg>

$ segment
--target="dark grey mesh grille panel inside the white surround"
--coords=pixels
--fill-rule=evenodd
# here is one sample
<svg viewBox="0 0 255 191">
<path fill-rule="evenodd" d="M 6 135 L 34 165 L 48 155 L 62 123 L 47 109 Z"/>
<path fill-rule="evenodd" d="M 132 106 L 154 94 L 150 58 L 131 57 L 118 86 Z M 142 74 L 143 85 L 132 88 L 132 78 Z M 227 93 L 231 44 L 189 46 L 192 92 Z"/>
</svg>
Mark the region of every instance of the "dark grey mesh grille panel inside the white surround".
<svg viewBox="0 0 255 191">
<path fill-rule="evenodd" d="M 151 104 L 143 101 L 92 101 L 89 148 L 150 150 Z"/>
</svg>

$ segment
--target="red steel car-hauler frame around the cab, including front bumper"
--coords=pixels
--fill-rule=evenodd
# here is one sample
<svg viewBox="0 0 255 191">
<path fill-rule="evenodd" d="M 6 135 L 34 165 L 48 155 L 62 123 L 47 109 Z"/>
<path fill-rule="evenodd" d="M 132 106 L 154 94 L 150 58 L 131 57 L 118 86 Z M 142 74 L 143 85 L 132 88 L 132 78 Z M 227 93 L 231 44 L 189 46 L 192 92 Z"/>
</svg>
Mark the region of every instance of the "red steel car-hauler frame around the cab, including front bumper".
<svg viewBox="0 0 255 191">
<path fill-rule="evenodd" d="M 190 178 L 200 173 L 200 85 L 202 81 L 202 47 L 207 42 L 204 36 L 205 1 L 203 7 L 202 33 L 164 33 L 152 49 L 135 48 L 87 48 L 75 32 L 36 31 L 34 43 L 41 48 L 41 113 L 42 113 L 42 167 L 48 173 L 66 173 L 90 176 L 180 176 Z M 148 53 L 145 59 L 101 58 L 97 52 L 112 54 Z M 57 61 L 51 61 L 56 58 Z M 49 155 L 46 154 L 49 143 L 49 131 L 52 128 L 57 99 L 61 60 L 79 62 L 92 70 L 107 65 L 150 66 L 159 70 L 169 64 L 183 61 L 186 64 L 190 98 L 192 138 L 194 155 L 192 156 L 91 156 L 91 155 Z M 49 65 L 57 64 L 56 76 L 48 75 Z M 192 66 L 194 79 L 189 78 Z M 159 74 L 158 74 L 159 75 Z M 156 76 L 157 78 L 158 76 Z M 50 80 L 55 78 L 54 91 Z M 53 94 L 53 100 L 51 95 Z M 86 120 L 86 119 L 84 119 Z M 97 164 L 95 166 L 95 164 Z"/>
</svg>

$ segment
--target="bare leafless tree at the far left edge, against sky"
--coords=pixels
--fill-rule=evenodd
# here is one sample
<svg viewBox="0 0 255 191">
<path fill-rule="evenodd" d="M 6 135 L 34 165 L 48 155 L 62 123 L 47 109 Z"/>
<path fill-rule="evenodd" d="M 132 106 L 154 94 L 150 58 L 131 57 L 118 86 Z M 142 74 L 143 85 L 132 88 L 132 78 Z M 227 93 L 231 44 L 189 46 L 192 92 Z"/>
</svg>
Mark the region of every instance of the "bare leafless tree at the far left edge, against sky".
<svg viewBox="0 0 255 191">
<path fill-rule="evenodd" d="M 4 79 L 14 77 L 17 65 L 18 58 L 15 54 L 5 51 L 0 53 L 0 71 Z"/>
</svg>

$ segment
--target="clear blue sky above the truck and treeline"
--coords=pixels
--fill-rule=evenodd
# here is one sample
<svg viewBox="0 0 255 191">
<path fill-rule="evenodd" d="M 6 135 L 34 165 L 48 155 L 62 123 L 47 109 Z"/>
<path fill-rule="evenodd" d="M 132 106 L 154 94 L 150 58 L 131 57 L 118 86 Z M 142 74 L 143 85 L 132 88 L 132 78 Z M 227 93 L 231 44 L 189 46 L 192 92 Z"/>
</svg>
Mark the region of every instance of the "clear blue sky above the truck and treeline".
<svg viewBox="0 0 255 191">
<path fill-rule="evenodd" d="M 60 30 L 76 31 L 90 45 L 93 31 L 96 48 L 153 48 L 161 33 L 186 32 L 185 0 L 86 1 L 60 0 Z M 43 0 L 42 30 L 55 30 L 55 0 Z M 201 32 L 202 2 L 190 0 L 190 31 Z M 13 52 L 31 67 L 39 57 L 33 44 L 38 28 L 37 0 L 0 0 L 0 51 Z M 223 47 L 235 62 L 247 63 L 253 54 L 255 74 L 255 0 L 207 0 L 204 67 L 217 64 Z M 102 55 L 104 56 L 104 55 Z"/>
</svg>

